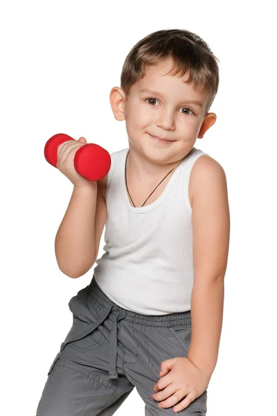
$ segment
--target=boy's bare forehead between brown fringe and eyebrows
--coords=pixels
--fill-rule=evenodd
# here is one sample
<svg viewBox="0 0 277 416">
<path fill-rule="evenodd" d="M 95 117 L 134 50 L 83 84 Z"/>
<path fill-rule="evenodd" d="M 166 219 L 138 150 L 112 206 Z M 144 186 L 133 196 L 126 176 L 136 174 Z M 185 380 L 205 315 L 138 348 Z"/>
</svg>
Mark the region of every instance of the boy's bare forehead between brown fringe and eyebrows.
<svg viewBox="0 0 277 416">
<path fill-rule="evenodd" d="M 205 104 L 207 93 L 202 88 L 196 89 L 195 85 L 186 83 L 188 74 L 183 77 L 168 74 L 171 69 L 172 62 L 170 60 L 146 67 L 143 78 L 133 85 L 134 92 L 139 94 L 141 89 L 149 89 L 150 91 L 159 92 L 162 96 L 175 96 L 180 100 L 190 98 Z"/>
</svg>

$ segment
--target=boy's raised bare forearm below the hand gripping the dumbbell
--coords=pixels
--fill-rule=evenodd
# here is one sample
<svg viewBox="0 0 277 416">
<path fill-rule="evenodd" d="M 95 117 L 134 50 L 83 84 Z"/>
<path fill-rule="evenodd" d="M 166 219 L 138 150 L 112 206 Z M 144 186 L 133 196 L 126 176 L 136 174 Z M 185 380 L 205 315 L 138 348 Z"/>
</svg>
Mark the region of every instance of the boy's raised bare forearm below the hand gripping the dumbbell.
<svg viewBox="0 0 277 416">
<path fill-rule="evenodd" d="M 74 186 L 69 206 L 57 230 L 57 264 L 65 275 L 72 278 L 84 275 L 95 261 L 97 195 L 97 182 L 91 182 L 91 186 Z"/>
</svg>

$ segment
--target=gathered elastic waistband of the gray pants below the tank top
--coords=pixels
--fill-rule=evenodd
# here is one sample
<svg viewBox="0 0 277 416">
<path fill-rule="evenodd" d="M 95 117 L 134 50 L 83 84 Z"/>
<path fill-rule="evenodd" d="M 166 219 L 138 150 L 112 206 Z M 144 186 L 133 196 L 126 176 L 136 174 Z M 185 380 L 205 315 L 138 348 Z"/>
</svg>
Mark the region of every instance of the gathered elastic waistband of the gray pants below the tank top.
<svg viewBox="0 0 277 416">
<path fill-rule="evenodd" d="M 91 283 L 85 288 L 87 294 L 107 309 L 113 309 L 114 311 L 125 311 L 125 320 L 134 324 L 145 325 L 147 327 L 172 327 L 178 325 L 190 325 L 191 315 L 190 311 L 168 313 L 166 315 L 143 315 L 142 313 L 136 313 L 124 309 L 121 306 L 115 304 L 98 286 L 95 276 L 93 275 Z"/>
</svg>

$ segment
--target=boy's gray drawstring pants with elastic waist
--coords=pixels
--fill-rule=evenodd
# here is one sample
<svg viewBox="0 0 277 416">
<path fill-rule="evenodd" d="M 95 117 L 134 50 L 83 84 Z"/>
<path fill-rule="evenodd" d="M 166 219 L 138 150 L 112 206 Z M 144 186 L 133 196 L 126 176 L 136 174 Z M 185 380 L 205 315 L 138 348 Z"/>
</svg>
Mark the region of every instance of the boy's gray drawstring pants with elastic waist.
<svg viewBox="0 0 277 416">
<path fill-rule="evenodd" d="M 48 371 L 37 416 L 111 416 L 134 387 L 145 416 L 206 415 L 207 390 L 181 412 L 159 408 L 151 397 L 161 361 L 188 354 L 190 311 L 127 311 L 109 300 L 94 276 L 69 309 L 73 325 Z"/>
</svg>

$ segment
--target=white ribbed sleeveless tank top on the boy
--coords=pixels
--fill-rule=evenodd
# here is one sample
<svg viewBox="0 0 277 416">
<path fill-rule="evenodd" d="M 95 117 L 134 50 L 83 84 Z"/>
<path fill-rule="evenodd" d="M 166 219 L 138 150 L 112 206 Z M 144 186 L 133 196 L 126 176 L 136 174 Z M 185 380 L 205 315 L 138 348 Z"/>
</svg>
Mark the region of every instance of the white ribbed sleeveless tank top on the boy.
<svg viewBox="0 0 277 416">
<path fill-rule="evenodd" d="M 125 184 L 128 148 L 111 153 L 107 176 L 105 253 L 96 260 L 98 286 L 115 304 L 144 315 L 190 310 L 193 227 L 188 182 L 192 148 L 152 204 L 133 207 Z"/>
</svg>

